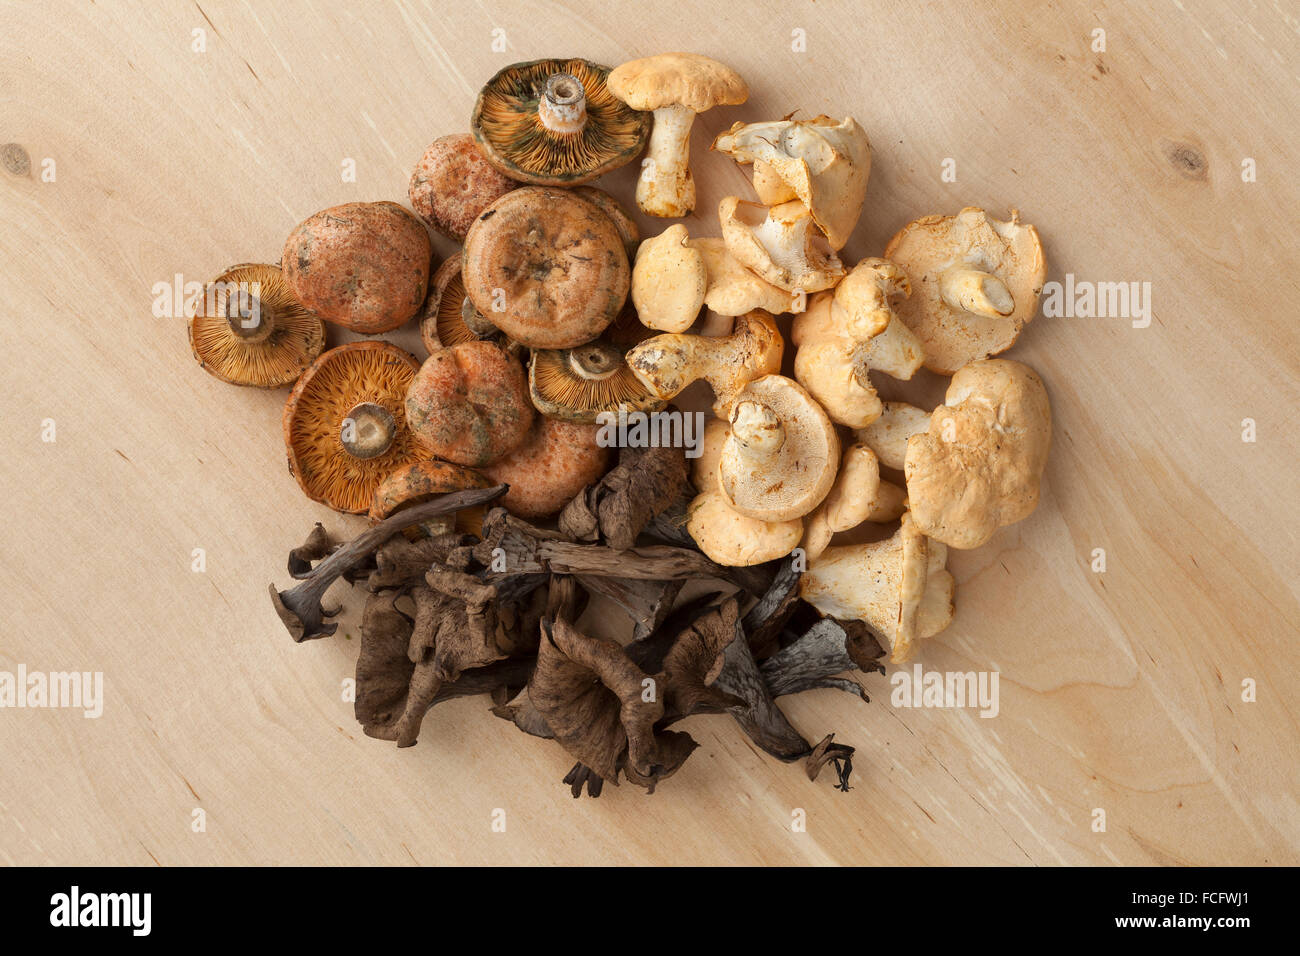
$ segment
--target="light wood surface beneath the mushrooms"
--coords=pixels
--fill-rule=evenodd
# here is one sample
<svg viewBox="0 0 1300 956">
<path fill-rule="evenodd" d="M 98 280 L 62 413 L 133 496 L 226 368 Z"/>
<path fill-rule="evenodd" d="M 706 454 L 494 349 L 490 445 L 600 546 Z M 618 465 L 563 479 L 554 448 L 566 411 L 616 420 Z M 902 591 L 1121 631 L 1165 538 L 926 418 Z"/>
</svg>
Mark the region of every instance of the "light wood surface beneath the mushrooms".
<svg viewBox="0 0 1300 956">
<path fill-rule="evenodd" d="M 0 670 L 103 671 L 105 705 L 0 710 L 0 861 L 1300 862 L 1300 13 L 1140 7 L 5 0 L 0 140 L 31 172 L 0 170 Z M 696 125 L 696 235 L 749 195 L 712 135 L 852 113 L 875 164 L 850 261 L 913 217 L 1014 206 L 1049 278 L 1152 284 L 1149 328 L 1040 317 L 1010 352 L 1052 397 L 1043 499 L 953 555 L 957 618 L 919 658 L 998 671 L 998 717 L 893 708 L 879 675 L 870 705 L 785 701 L 858 747 L 849 793 L 725 717 L 689 721 L 701 749 L 653 796 L 582 801 L 560 748 L 482 698 L 413 749 L 365 737 L 341 696 L 355 615 L 295 646 L 266 598 L 313 522 L 361 523 L 286 473 L 283 392 L 204 375 L 183 320 L 151 313 L 177 273 L 278 261 L 318 208 L 406 202 L 500 66 L 670 49 L 753 88 Z M 630 199 L 630 169 L 607 182 Z"/>
</svg>

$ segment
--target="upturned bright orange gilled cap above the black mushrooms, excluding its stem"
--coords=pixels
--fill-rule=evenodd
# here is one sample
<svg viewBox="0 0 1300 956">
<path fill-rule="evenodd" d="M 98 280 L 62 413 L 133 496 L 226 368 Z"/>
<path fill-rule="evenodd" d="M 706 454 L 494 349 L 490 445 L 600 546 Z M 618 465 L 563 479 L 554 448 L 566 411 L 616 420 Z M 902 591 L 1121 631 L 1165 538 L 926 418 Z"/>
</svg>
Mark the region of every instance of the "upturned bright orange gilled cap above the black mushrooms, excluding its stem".
<svg viewBox="0 0 1300 956">
<path fill-rule="evenodd" d="M 428 458 L 403 411 L 420 362 L 387 342 L 351 342 L 322 352 L 303 372 L 285 402 L 282 425 L 289 472 L 312 501 L 365 514 L 374 489 L 396 468 Z M 393 419 L 393 444 L 373 458 L 356 458 L 341 433 L 352 410 L 382 407 Z"/>
</svg>

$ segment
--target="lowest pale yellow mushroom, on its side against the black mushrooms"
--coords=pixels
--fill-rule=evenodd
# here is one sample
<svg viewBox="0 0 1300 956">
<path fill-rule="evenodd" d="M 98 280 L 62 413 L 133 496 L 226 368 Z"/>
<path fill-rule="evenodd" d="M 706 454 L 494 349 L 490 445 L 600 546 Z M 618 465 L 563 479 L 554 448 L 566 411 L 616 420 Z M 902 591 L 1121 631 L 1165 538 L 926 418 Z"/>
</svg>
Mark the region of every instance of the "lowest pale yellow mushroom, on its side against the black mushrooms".
<svg viewBox="0 0 1300 956">
<path fill-rule="evenodd" d="M 890 659 L 902 663 L 918 640 L 952 623 L 954 585 L 946 561 L 948 549 L 922 535 L 905 512 L 893 537 L 827 548 L 809 561 L 800 597 L 832 618 L 866 622 L 889 643 Z"/>
</svg>

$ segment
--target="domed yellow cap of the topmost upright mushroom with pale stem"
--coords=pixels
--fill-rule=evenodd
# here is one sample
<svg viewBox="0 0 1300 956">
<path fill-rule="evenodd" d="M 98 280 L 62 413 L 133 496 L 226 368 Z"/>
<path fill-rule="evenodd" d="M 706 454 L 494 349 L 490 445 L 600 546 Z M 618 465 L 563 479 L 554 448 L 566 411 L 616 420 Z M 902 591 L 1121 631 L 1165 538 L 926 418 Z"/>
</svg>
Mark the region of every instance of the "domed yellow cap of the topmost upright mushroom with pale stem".
<svg viewBox="0 0 1300 956">
<path fill-rule="evenodd" d="M 744 78 L 699 53 L 659 53 L 630 60 L 610 73 L 610 91 L 633 109 L 686 107 L 703 113 L 749 99 Z"/>
</svg>

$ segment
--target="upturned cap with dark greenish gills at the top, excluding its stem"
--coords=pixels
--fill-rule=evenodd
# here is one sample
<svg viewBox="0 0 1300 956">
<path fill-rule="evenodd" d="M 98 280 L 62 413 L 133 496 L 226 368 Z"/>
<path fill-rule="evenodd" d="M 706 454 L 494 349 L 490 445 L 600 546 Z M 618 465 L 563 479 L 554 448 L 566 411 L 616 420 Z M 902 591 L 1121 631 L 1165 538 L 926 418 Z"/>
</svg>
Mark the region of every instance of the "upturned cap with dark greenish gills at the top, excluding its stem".
<svg viewBox="0 0 1300 956">
<path fill-rule="evenodd" d="M 538 117 L 546 81 L 556 74 L 582 85 L 586 121 L 577 133 L 555 133 Z M 469 129 L 488 160 L 512 179 L 536 186 L 590 182 L 636 159 L 650 135 L 650 117 L 619 100 L 608 75 L 608 66 L 586 60 L 511 64 L 478 94 Z"/>
</svg>

